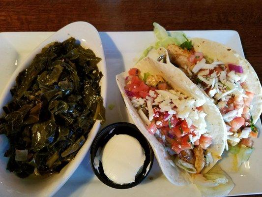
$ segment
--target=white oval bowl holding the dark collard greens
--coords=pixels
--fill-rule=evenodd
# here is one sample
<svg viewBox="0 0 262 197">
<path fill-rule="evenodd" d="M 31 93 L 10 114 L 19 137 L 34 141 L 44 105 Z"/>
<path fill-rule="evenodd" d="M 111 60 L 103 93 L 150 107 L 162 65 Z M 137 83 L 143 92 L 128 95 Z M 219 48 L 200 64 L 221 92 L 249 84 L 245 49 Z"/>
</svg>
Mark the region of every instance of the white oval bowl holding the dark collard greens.
<svg viewBox="0 0 262 197">
<path fill-rule="evenodd" d="M 97 64 L 99 71 L 103 73 L 103 77 L 100 81 L 101 96 L 104 99 L 104 106 L 106 105 L 106 91 L 107 91 L 107 70 L 102 42 L 97 30 L 87 22 L 75 22 L 71 23 L 52 36 L 42 42 L 37 48 L 35 48 L 26 60 L 17 67 L 12 74 L 11 78 L 7 82 L 0 96 L 0 114 L 3 114 L 2 107 L 11 101 L 12 96 L 10 89 L 15 85 L 16 76 L 30 65 L 36 54 L 40 53 L 42 48 L 47 44 L 54 41 L 64 41 L 69 37 L 74 37 L 81 42 L 81 46 L 91 49 L 97 57 L 102 60 Z M 27 46 L 25 46 L 27 47 Z M 4 73 L 1 73 L 4 74 Z M 8 140 L 5 135 L 0 135 L 0 197 L 49 197 L 53 196 L 62 185 L 69 179 L 74 173 L 79 164 L 86 156 L 90 145 L 98 132 L 100 127 L 100 121 L 96 121 L 91 131 L 88 134 L 87 141 L 78 151 L 73 161 L 67 164 L 60 173 L 50 175 L 46 178 L 42 177 L 27 177 L 21 179 L 14 173 L 6 170 L 6 165 L 9 158 L 3 157 L 3 153 L 8 149 Z M 83 174 L 85 176 L 85 174 Z"/>
</svg>

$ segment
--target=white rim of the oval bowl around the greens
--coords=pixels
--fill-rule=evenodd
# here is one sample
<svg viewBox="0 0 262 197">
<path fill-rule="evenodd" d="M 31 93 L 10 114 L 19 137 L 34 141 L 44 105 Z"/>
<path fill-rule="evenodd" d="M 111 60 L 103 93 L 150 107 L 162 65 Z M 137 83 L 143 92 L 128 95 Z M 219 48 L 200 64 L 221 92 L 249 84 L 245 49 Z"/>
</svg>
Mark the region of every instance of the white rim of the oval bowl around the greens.
<svg viewBox="0 0 262 197">
<path fill-rule="evenodd" d="M 97 46 L 93 47 L 91 46 L 91 44 L 89 44 L 90 49 L 94 50 L 94 48 L 96 48 L 96 55 L 97 53 L 99 53 L 99 57 L 102 59 L 98 65 L 99 70 L 102 71 L 103 73 L 103 77 L 99 83 L 99 85 L 101 86 L 101 97 L 103 98 L 103 105 L 106 107 L 106 99 L 107 99 L 107 68 L 106 68 L 106 60 L 105 60 L 105 55 L 104 55 L 104 49 L 102 46 L 102 41 L 101 41 L 101 37 L 98 33 L 98 31 L 96 30 L 96 28 L 91 25 L 90 23 L 84 22 L 84 21 L 77 21 L 77 22 L 73 22 L 70 23 L 66 26 L 64 26 L 63 28 L 61 28 L 60 30 L 58 30 L 56 33 L 52 34 L 50 37 L 48 37 L 47 39 L 45 39 L 41 44 L 39 44 L 36 48 L 34 48 L 29 55 L 24 59 L 24 61 L 19 64 L 19 66 L 15 69 L 15 71 L 12 73 L 11 77 L 9 78 L 8 82 L 6 83 L 1 95 L 0 95 L 0 107 L 4 106 L 5 104 L 7 104 L 10 99 L 10 88 L 12 88 L 15 84 L 16 84 L 16 77 L 18 76 L 18 74 L 24 70 L 26 67 L 29 66 L 29 64 L 32 62 L 33 58 L 35 57 L 36 54 L 40 53 L 42 48 L 44 48 L 47 44 L 53 42 L 53 41 L 63 41 L 69 37 L 75 37 L 76 39 L 82 38 L 87 38 L 83 37 L 83 34 L 86 33 L 87 31 L 90 32 L 90 34 L 93 36 L 94 39 L 96 39 L 95 42 L 97 42 Z M 67 36 L 67 38 L 66 38 Z M 94 37 L 95 36 L 95 37 Z M 90 39 L 90 37 L 89 37 Z M 80 40 L 81 41 L 81 40 Z M 81 41 L 81 45 L 82 45 L 82 41 Z M 87 40 L 88 43 L 88 40 Z M 90 43 L 90 41 L 89 41 Z M 12 97 L 11 97 L 12 98 Z M 3 110 L 2 108 L 0 108 L 0 115 L 3 115 Z M 58 177 L 58 181 L 53 182 L 53 184 L 49 187 L 45 187 L 45 192 L 44 192 L 44 196 L 53 196 L 63 185 L 64 183 L 71 177 L 71 175 L 75 172 L 75 170 L 77 169 L 77 167 L 81 164 L 81 162 L 83 161 L 84 157 L 87 155 L 87 152 L 91 146 L 91 143 L 96 135 L 96 133 L 98 132 L 99 128 L 100 128 L 100 123 L 101 121 L 96 120 L 93 127 L 91 128 L 88 137 L 87 137 L 87 141 L 85 142 L 85 144 L 79 149 L 77 155 L 75 156 L 74 160 L 71 161 L 69 164 L 67 164 L 65 167 L 63 167 L 64 171 L 60 171 L 59 173 L 62 173 L 62 175 L 60 175 Z M 91 136 L 90 136 L 91 133 Z M 2 156 L 1 156 L 2 157 Z M 4 166 L 5 167 L 5 166 Z M 11 174 L 11 172 L 8 172 Z M 56 176 L 51 175 L 51 176 Z M 50 176 L 50 177 L 51 177 Z M 6 186 L 8 187 L 8 186 Z M 12 188 L 14 189 L 14 188 Z M 16 191 L 16 189 L 14 189 Z M 21 191 L 19 191 L 21 192 Z M 0 193 L 1 194 L 1 193 Z M 19 195 L 29 195 L 30 193 L 20 193 Z M 36 194 L 34 194 L 36 195 Z M 43 193 L 39 193 L 38 196 L 43 196 Z"/>
</svg>

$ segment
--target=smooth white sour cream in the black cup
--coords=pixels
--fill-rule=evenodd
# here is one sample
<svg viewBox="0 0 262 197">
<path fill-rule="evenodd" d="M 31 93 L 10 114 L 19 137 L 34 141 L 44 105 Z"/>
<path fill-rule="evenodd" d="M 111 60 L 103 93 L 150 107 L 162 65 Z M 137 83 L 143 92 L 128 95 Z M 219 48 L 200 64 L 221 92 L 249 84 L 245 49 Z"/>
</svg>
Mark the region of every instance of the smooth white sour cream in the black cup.
<svg viewBox="0 0 262 197">
<path fill-rule="evenodd" d="M 134 182 L 145 160 L 139 141 L 127 134 L 114 135 L 102 152 L 105 175 L 120 185 Z"/>
</svg>

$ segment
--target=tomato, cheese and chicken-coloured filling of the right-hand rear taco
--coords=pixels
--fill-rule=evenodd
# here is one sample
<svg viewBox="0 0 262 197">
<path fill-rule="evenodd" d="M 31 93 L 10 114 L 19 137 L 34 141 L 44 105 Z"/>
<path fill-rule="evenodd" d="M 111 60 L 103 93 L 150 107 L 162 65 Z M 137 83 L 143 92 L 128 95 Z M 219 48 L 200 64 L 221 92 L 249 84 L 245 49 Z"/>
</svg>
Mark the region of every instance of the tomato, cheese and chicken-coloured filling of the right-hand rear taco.
<svg viewBox="0 0 262 197">
<path fill-rule="evenodd" d="M 251 138 L 258 137 L 250 105 L 254 93 L 246 85 L 247 75 L 242 66 L 205 59 L 203 53 L 187 50 L 172 44 L 167 47 L 173 63 L 214 99 L 227 125 L 228 143 L 252 147 Z"/>
</svg>

